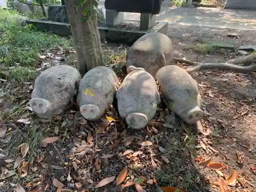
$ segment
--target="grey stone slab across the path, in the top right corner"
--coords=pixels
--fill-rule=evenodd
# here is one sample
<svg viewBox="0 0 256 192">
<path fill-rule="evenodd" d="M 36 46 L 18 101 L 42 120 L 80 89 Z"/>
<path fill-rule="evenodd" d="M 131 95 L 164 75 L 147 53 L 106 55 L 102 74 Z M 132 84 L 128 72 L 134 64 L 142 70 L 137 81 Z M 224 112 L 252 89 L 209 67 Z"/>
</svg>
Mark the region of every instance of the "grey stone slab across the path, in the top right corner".
<svg viewBox="0 0 256 192">
<path fill-rule="evenodd" d="M 255 0 L 226 0 L 225 9 L 256 9 Z"/>
</svg>

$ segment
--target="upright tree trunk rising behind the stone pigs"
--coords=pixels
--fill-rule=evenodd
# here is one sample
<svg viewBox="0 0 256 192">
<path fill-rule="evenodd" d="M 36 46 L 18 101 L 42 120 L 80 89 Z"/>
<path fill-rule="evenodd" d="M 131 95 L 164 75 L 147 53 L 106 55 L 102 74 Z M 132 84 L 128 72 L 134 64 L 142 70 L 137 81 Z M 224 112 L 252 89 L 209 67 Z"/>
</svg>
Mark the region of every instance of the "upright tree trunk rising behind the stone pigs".
<svg viewBox="0 0 256 192">
<path fill-rule="evenodd" d="M 86 3 L 76 8 L 78 6 L 76 0 L 65 0 L 77 55 L 77 69 L 82 76 L 89 70 L 104 65 L 97 10 L 95 9 L 97 2 L 95 0 L 83 1 Z M 89 11 L 84 16 L 83 11 L 87 7 Z"/>
</svg>

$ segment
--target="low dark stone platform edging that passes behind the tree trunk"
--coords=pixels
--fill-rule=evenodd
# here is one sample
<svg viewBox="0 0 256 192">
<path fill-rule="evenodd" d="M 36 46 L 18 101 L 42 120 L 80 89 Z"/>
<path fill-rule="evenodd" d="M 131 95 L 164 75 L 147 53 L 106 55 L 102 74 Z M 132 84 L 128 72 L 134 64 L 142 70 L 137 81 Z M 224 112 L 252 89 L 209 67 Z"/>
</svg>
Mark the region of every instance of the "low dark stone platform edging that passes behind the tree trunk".
<svg viewBox="0 0 256 192">
<path fill-rule="evenodd" d="M 70 24 L 58 23 L 42 19 L 28 19 L 27 24 L 32 24 L 36 29 L 52 32 L 60 36 L 72 35 Z M 127 21 L 129 22 L 129 21 Z M 132 45 L 138 38 L 146 33 L 159 32 L 167 34 L 168 22 L 159 22 L 149 30 L 129 30 L 99 24 L 99 33 L 102 41 Z"/>
</svg>

